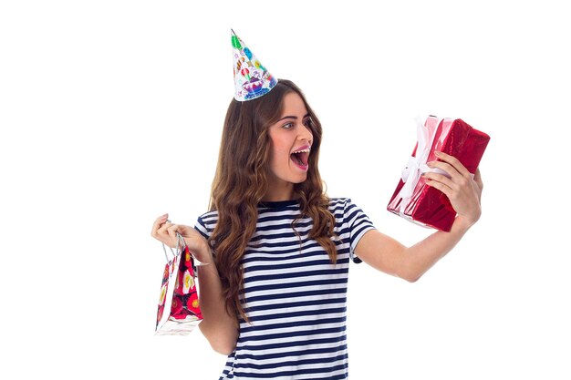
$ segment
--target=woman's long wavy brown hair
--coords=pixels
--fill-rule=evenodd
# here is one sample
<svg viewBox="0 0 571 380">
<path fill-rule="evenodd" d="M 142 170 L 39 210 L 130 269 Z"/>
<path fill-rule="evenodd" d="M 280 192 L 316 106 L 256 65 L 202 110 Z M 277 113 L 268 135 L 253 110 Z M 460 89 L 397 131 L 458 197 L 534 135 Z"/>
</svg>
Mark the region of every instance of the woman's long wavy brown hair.
<svg viewBox="0 0 571 380">
<path fill-rule="evenodd" d="M 244 102 L 232 99 L 224 120 L 209 205 L 210 211 L 218 211 L 218 222 L 208 243 L 213 248 L 222 281 L 226 311 L 230 315 L 240 314 L 248 322 L 239 298 L 244 285 L 241 261 L 255 232 L 258 203 L 268 190 L 271 144 L 268 128 L 282 117 L 285 95 L 292 92 L 304 101 L 313 134 L 306 180 L 294 184 L 294 197 L 300 202 L 301 214 L 292 227 L 296 231 L 296 221 L 310 217 L 313 228 L 309 239 L 315 239 L 327 251 L 331 262 L 337 262 L 336 245 L 331 241 L 337 236 L 333 231 L 335 218 L 327 209 L 329 198 L 317 168 L 321 124 L 302 91 L 292 81 L 279 79 L 261 98 Z"/>
</svg>

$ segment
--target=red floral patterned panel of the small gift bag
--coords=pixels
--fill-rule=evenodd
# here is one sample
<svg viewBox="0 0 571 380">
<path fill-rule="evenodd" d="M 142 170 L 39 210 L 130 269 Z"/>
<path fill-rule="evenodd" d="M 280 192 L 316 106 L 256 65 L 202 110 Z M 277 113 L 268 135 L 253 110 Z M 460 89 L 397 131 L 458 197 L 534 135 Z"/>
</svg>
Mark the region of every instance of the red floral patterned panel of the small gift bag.
<svg viewBox="0 0 571 380">
<path fill-rule="evenodd" d="M 196 267 L 188 247 L 182 251 L 182 262 L 177 273 L 174 294 L 172 295 L 171 317 L 185 319 L 189 316 L 202 320 L 202 312 L 198 303 L 196 290 Z"/>
</svg>

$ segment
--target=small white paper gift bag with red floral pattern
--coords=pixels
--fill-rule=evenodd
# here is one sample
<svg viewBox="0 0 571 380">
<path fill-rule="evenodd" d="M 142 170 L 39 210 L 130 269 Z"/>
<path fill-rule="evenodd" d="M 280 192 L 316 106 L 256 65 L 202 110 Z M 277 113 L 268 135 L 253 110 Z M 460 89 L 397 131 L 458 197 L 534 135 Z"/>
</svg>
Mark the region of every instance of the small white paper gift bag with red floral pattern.
<svg viewBox="0 0 571 380">
<path fill-rule="evenodd" d="M 171 260 L 162 245 L 167 263 L 162 273 L 156 335 L 188 335 L 202 321 L 194 259 L 178 232 L 177 238 Z"/>
</svg>

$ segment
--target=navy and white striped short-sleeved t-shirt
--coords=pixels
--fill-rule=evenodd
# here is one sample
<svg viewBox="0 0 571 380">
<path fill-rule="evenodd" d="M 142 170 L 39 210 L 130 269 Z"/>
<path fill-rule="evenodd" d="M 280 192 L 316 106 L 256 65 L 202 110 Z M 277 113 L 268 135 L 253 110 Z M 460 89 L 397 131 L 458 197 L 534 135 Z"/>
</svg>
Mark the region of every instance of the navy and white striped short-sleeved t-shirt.
<svg viewBox="0 0 571 380">
<path fill-rule="evenodd" d="M 347 198 L 333 198 L 329 211 L 339 239 L 337 264 L 307 235 L 310 218 L 297 200 L 258 205 L 258 221 L 242 259 L 241 301 L 251 324 L 238 317 L 236 348 L 220 379 L 344 379 L 348 377 L 346 336 L 349 259 L 365 232 L 375 227 Z M 199 217 L 195 229 L 208 238 L 217 211 Z M 244 295 L 246 303 L 244 303 Z"/>
</svg>

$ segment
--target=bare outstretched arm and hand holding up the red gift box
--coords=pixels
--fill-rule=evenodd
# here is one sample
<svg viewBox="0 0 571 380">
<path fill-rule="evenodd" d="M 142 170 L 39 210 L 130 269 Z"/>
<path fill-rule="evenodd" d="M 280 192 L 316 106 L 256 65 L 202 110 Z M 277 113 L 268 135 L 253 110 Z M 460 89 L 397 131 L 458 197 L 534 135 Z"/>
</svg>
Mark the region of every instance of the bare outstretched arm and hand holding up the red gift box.
<svg viewBox="0 0 571 380">
<path fill-rule="evenodd" d="M 358 241 L 355 253 L 363 261 L 382 272 L 415 282 L 462 239 L 462 236 L 480 219 L 483 182 L 480 169 L 474 178 L 462 163 L 445 153 L 438 152 L 442 161 L 429 162 L 431 168 L 446 171 L 451 178 L 434 172 L 424 178 L 429 186 L 441 190 L 451 201 L 458 216 L 450 232 L 436 231 L 426 239 L 407 248 L 399 241 L 376 231 L 367 231 Z"/>
</svg>

